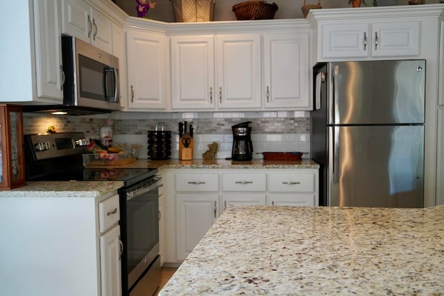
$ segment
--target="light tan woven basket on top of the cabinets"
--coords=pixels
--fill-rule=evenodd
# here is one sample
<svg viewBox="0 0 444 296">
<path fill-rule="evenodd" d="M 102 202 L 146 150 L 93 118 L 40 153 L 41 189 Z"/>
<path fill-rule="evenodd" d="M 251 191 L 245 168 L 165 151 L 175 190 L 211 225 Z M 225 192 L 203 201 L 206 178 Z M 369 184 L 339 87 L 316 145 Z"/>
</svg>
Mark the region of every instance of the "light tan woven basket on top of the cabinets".
<svg viewBox="0 0 444 296">
<path fill-rule="evenodd" d="M 214 0 L 171 0 L 178 22 L 201 22 L 214 19 Z"/>
</svg>

